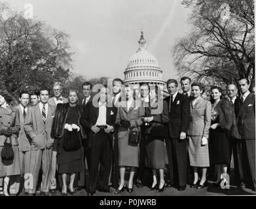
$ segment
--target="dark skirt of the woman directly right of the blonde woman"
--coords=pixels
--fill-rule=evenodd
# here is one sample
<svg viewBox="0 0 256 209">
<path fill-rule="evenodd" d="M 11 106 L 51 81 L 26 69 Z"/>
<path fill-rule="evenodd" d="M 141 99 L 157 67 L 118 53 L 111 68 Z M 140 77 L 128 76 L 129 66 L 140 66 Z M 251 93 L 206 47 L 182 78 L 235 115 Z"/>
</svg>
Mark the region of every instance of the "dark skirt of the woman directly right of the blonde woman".
<svg viewBox="0 0 256 209">
<path fill-rule="evenodd" d="M 145 167 L 151 169 L 164 169 L 165 155 L 164 155 L 164 141 L 152 140 L 146 144 Z"/>
</svg>

